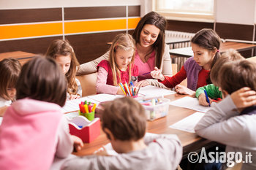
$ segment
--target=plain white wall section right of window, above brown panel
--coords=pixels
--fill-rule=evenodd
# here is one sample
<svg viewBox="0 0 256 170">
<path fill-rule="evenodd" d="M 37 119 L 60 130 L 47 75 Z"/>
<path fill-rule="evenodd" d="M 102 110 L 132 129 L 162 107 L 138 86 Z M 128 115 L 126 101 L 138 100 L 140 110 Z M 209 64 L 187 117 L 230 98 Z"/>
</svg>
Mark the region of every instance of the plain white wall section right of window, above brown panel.
<svg viewBox="0 0 256 170">
<path fill-rule="evenodd" d="M 217 23 L 255 24 L 255 0 L 217 0 Z"/>
</svg>

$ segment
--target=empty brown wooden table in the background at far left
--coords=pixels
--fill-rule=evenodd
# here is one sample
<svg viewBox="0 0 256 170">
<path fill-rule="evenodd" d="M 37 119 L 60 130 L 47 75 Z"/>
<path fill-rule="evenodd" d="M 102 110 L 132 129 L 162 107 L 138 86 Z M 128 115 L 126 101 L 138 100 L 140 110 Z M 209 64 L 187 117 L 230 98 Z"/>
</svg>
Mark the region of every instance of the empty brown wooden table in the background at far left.
<svg viewBox="0 0 256 170">
<path fill-rule="evenodd" d="M 34 58 L 36 55 L 33 53 L 26 53 L 23 51 L 14 51 L 9 53 L 0 53 L 0 61 L 4 58 L 15 58 L 20 61 L 20 64 L 23 65 L 27 61 L 29 61 L 31 58 Z"/>
</svg>

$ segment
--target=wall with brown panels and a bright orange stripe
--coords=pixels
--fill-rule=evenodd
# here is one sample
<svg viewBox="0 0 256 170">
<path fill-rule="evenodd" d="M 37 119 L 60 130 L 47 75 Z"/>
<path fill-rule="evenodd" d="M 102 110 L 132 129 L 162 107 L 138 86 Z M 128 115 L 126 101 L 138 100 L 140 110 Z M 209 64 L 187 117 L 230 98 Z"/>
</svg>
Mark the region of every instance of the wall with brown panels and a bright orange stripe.
<svg viewBox="0 0 256 170">
<path fill-rule="evenodd" d="M 53 39 L 68 39 L 78 61 L 104 54 L 107 42 L 131 33 L 140 20 L 140 1 L 0 1 L 0 53 L 45 53 Z"/>
</svg>

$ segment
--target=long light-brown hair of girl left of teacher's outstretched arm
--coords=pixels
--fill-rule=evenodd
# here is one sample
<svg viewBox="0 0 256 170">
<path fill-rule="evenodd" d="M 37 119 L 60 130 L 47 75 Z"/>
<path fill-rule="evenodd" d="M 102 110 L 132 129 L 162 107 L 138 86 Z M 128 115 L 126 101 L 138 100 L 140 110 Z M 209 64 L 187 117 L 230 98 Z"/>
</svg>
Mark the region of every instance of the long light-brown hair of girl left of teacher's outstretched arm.
<svg viewBox="0 0 256 170">
<path fill-rule="evenodd" d="M 71 63 L 69 71 L 66 73 L 67 78 L 67 93 L 76 94 L 78 90 L 78 85 L 75 82 L 75 74 L 77 68 L 79 68 L 78 59 L 75 57 L 74 50 L 67 40 L 55 39 L 48 47 L 48 50 L 45 54 L 51 58 L 56 58 L 58 55 L 70 55 Z"/>
</svg>

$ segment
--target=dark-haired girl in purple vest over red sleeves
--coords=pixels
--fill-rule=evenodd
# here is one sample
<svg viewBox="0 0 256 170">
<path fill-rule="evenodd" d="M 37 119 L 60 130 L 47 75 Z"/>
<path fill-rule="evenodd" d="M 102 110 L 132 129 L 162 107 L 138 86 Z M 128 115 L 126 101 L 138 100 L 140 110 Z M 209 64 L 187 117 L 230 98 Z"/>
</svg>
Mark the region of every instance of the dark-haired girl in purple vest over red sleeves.
<svg viewBox="0 0 256 170">
<path fill-rule="evenodd" d="M 211 83 L 208 74 L 219 58 L 220 38 L 212 29 L 202 29 L 191 39 L 194 57 L 189 58 L 181 71 L 173 77 L 164 76 L 160 69 L 155 68 L 151 76 L 159 79 L 167 88 L 176 89 L 177 93 L 195 96 L 195 90 Z M 178 85 L 187 77 L 187 88 Z"/>
</svg>

